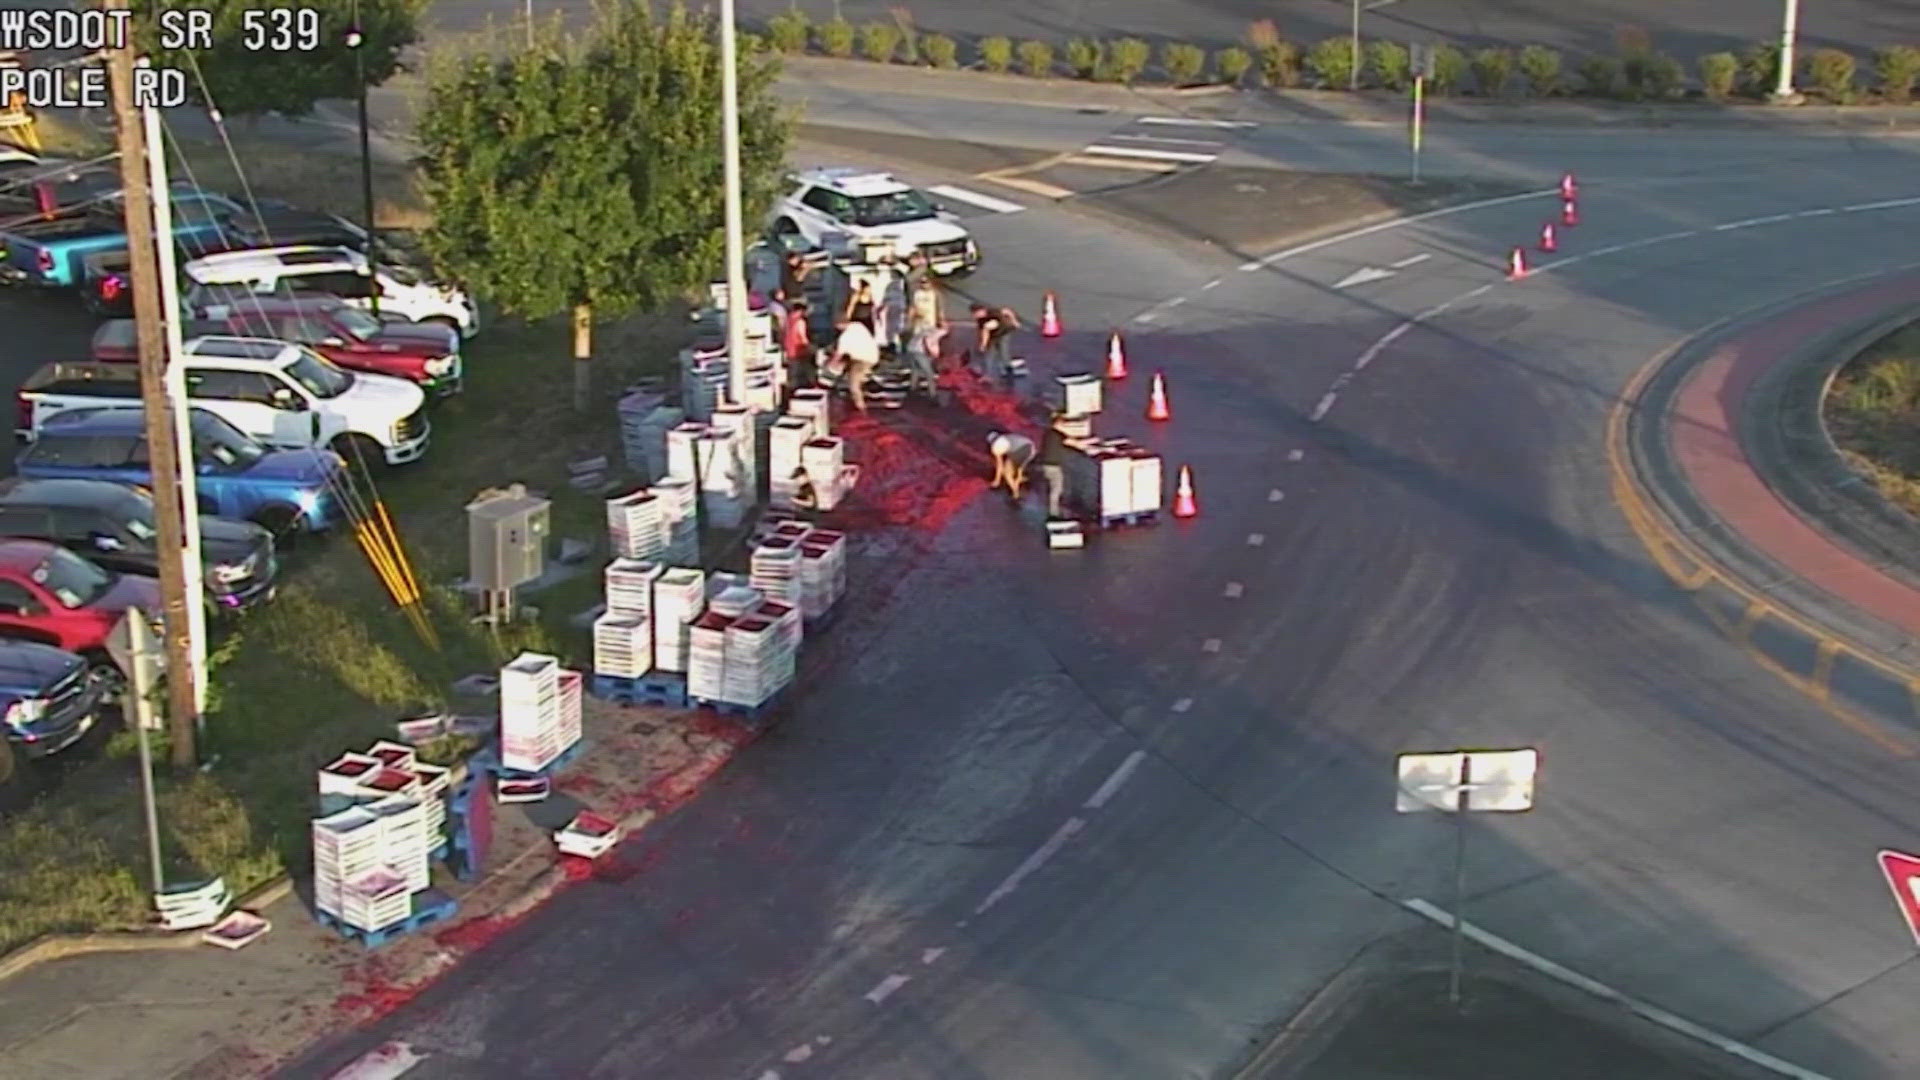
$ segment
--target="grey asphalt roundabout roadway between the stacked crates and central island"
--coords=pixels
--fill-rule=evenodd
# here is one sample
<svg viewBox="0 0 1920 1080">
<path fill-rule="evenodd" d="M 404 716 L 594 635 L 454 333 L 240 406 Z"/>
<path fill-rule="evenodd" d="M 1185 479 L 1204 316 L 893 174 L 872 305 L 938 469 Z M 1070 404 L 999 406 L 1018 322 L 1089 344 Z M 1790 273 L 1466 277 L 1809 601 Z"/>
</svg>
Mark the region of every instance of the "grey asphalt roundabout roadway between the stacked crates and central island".
<svg viewBox="0 0 1920 1080">
<path fill-rule="evenodd" d="M 1816 1074 L 1910 1076 L 1920 970 L 1872 851 L 1920 826 L 1920 736 L 1864 738 L 1724 640 L 1605 442 L 1647 357 L 1912 261 L 1907 190 L 1891 152 L 1594 184 L 1519 282 L 1542 198 L 1246 267 L 1056 209 L 977 225 L 979 288 L 1058 288 L 1068 354 L 1129 327 L 1102 427 L 1192 463 L 1202 517 L 1048 555 L 973 503 L 643 874 L 290 1074 L 403 1040 L 420 1080 L 1217 1076 L 1423 926 L 1407 899 L 1446 903 L 1444 822 L 1392 813 L 1392 757 L 1534 746 L 1538 809 L 1475 822 L 1473 922 Z M 1148 432 L 1152 367 L 1175 421 Z"/>
</svg>

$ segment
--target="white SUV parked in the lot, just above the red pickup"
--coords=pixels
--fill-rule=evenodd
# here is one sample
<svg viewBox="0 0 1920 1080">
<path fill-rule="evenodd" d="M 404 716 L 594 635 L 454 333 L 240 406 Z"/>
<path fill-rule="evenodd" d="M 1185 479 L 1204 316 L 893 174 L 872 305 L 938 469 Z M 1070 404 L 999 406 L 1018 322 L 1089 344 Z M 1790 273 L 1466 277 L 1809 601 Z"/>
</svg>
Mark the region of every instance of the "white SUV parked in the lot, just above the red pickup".
<svg viewBox="0 0 1920 1080">
<path fill-rule="evenodd" d="M 434 284 L 403 263 L 367 263 L 353 248 L 253 248 L 198 258 L 182 267 L 194 284 L 238 284 L 259 294 L 326 292 L 369 309 L 378 296 L 382 315 L 413 323 L 442 323 L 463 336 L 480 329 L 474 302 L 459 288 Z"/>
</svg>

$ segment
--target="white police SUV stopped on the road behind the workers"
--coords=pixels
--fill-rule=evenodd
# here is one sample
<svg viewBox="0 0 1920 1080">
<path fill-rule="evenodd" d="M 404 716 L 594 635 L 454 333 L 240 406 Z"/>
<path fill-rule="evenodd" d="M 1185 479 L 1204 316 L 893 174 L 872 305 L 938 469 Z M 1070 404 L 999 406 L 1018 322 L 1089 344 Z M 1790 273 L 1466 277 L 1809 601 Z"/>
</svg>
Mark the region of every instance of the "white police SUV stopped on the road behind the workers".
<svg viewBox="0 0 1920 1080">
<path fill-rule="evenodd" d="M 854 240 L 891 240 L 899 259 L 927 256 L 933 273 L 968 273 L 979 265 L 973 236 L 954 215 L 891 173 L 810 169 L 789 177 L 774 206 L 776 236 L 801 236 L 824 246 L 833 233 Z"/>
</svg>

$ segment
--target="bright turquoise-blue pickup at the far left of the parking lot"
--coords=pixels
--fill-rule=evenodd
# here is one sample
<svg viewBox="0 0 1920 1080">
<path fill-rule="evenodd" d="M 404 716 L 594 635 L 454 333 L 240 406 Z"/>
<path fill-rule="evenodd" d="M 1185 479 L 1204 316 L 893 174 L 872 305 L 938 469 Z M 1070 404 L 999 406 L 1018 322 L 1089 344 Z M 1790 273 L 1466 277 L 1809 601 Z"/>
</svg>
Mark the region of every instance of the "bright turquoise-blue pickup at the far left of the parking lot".
<svg viewBox="0 0 1920 1080">
<path fill-rule="evenodd" d="M 253 215 L 223 194 L 177 188 L 173 240 L 188 258 L 257 242 Z M 86 281 L 86 258 L 127 248 L 117 198 L 67 213 L 23 217 L 0 227 L 0 281 L 75 288 Z"/>
</svg>

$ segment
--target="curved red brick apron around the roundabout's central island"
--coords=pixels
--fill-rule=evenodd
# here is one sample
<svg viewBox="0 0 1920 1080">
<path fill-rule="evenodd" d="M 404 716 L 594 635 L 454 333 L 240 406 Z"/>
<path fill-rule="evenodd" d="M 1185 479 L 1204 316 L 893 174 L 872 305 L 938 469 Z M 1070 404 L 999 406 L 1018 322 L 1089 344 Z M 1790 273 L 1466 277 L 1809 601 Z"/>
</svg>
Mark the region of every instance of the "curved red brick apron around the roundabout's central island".
<svg viewBox="0 0 1920 1080">
<path fill-rule="evenodd" d="M 1740 444 L 1738 417 L 1755 382 L 1801 342 L 1916 294 L 1920 275 L 1908 273 L 1751 325 L 1688 375 L 1667 417 L 1682 473 L 1720 521 L 1793 575 L 1912 634 L 1920 634 L 1920 590 L 1880 573 L 1776 496 Z"/>
</svg>

